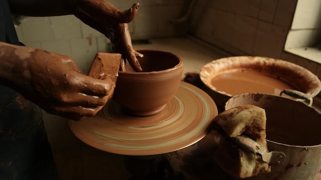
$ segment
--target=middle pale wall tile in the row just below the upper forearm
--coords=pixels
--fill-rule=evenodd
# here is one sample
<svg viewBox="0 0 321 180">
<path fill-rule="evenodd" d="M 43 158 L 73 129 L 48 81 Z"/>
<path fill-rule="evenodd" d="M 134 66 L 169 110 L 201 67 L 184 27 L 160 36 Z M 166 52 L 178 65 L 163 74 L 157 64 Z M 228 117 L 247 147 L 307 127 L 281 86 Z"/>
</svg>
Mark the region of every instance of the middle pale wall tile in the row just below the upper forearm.
<svg viewBox="0 0 321 180">
<path fill-rule="evenodd" d="M 80 20 L 74 15 L 50 17 L 55 40 L 82 37 Z"/>
</svg>

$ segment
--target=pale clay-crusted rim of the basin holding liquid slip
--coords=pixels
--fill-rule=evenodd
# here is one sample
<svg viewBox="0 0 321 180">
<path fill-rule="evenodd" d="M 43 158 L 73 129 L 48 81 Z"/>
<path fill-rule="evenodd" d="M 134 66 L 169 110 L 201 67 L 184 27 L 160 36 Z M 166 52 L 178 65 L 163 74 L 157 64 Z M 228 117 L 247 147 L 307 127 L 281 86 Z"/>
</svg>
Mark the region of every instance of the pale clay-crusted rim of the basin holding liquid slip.
<svg viewBox="0 0 321 180">
<path fill-rule="evenodd" d="M 200 70 L 200 73 L 199 73 L 200 79 L 212 91 L 214 91 L 216 93 L 219 93 L 219 94 L 222 94 L 224 96 L 233 97 L 234 95 L 228 94 L 228 93 L 223 92 L 223 91 L 219 91 L 219 90 L 216 89 L 216 87 L 214 87 L 211 84 L 212 78 L 207 75 L 208 73 L 207 73 L 206 69 L 209 69 L 209 66 L 211 66 L 213 64 L 216 65 L 216 64 L 220 64 L 220 63 L 226 62 L 229 59 L 238 59 L 238 58 L 259 59 L 259 60 L 263 61 L 263 63 L 269 62 L 269 64 L 271 64 L 271 65 L 279 64 L 280 66 L 284 66 L 284 65 L 292 66 L 293 68 L 296 68 L 297 70 L 300 70 L 300 72 L 304 72 L 304 74 L 305 74 L 304 77 L 309 77 L 310 78 L 310 82 L 313 82 L 313 85 L 314 85 L 313 88 L 310 88 L 309 91 L 306 92 L 306 94 L 310 95 L 311 97 L 314 97 L 321 91 L 321 81 L 318 79 L 318 77 L 315 74 L 313 74 L 309 70 L 303 68 L 300 65 L 294 64 L 292 62 L 288 62 L 288 61 L 281 60 L 281 59 L 276 59 L 276 58 L 264 57 L 264 56 L 231 56 L 231 57 L 224 57 L 224 58 L 213 60 L 213 61 L 207 63 L 206 65 L 204 65 L 203 68 Z M 274 61 L 274 63 L 271 63 L 271 61 Z M 249 64 L 255 64 L 255 62 L 252 61 Z M 238 67 L 231 66 L 227 70 L 242 69 L 242 68 L 245 68 L 245 67 L 243 67 L 243 66 L 238 66 Z M 226 72 L 227 70 L 223 70 L 222 71 L 221 69 L 218 69 L 217 72 L 222 73 L 222 72 Z M 216 74 L 219 74 L 219 73 L 216 73 Z"/>
</svg>

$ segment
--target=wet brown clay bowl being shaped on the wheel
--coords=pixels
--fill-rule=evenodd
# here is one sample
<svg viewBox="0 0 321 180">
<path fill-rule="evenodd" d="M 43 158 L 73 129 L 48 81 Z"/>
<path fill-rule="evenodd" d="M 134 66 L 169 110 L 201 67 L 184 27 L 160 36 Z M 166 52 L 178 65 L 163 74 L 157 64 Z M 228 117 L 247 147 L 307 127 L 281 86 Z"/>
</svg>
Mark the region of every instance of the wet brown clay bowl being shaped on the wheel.
<svg viewBox="0 0 321 180">
<path fill-rule="evenodd" d="M 173 53 L 157 50 L 136 50 L 144 54 L 138 58 L 143 72 L 135 72 L 127 65 L 119 72 L 113 100 L 122 105 L 125 113 L 150 116 L 165 108 L 177 92 L 183 61 Z"/>
</svg>

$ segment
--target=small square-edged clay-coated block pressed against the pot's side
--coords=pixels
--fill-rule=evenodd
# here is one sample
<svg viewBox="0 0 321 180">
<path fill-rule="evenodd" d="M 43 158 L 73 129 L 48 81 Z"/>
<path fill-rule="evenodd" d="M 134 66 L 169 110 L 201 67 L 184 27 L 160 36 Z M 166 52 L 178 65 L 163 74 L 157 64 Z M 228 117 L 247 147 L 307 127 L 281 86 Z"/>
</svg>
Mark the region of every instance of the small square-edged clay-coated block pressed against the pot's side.
<svg viewBox="0 0 321 180">
<path fill-rule="evenodd" d="M 116 83 L 122 55 L 117 53 L 97 53 L 88 76 L 96 79 L 111 79 Z"/>
</svg>

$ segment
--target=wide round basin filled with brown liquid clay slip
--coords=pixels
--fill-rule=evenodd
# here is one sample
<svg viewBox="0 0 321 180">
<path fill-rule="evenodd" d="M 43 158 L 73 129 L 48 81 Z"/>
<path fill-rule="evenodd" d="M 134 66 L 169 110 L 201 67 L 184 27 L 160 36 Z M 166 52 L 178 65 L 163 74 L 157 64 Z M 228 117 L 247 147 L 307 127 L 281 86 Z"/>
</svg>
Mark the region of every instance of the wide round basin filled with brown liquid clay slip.
<svg viewBox="0 0 321 180">
<path fill-rule="evenodd" d="M 232 96 L 245 93 L 279 95 L 294 89 L 310 97 L 321 90 L 316 75 L 294 63 L 255 56 L 235 56 L 213 60 L 200 70 L 205 91 L 219 107 Z"/>
</svg>

